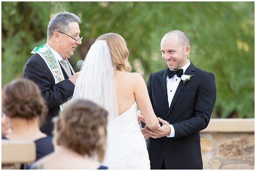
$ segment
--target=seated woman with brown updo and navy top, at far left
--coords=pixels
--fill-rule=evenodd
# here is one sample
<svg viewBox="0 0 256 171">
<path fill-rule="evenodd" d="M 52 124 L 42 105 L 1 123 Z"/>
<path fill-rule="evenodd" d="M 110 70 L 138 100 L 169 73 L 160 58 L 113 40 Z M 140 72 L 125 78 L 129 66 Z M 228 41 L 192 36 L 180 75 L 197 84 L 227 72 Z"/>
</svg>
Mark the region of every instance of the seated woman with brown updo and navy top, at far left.
<svg viewBox="0 0 256 171">
<path fill-rule="evenodd" d="M 4 86 L 2 110 L 11 128 L 11 133 L 3 139 L 35 142 L 36 160 L 53 152 L 52 137 L 39 129 L 39 122 L 42 123 L 48 110 L 35 83 L 27 79 L 16 79 Z"/>
</svg>

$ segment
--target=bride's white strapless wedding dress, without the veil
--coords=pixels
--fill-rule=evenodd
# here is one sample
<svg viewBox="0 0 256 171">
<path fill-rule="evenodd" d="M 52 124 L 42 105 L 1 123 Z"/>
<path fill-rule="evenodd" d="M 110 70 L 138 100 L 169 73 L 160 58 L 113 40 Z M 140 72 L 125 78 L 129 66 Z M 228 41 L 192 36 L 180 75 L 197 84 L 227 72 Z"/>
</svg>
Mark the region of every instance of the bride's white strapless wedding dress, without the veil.
<svg viewBox="0 0 256 171">
<path fill-rule="evenodd" d="M 129 110 L 112 120 L 107 128 L 104 166 L 110 169 L 150 169 L 149 153 L 140 131 L 134 101 Z"/>
</svg>

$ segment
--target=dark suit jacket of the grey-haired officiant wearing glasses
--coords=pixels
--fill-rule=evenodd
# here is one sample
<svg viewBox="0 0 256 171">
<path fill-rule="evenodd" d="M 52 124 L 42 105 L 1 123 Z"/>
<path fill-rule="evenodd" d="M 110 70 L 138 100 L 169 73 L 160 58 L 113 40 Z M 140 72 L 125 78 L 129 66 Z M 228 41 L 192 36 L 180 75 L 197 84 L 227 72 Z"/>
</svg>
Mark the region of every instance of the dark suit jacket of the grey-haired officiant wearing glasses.
<svg viewBox="0 0 256 171">
<path fill-rule="evenodd" d="M 55 84 L 55 80 L 44 59 L 35 53 L 26 62 L 22 73 L 22 78 L 34 81 L 42 91 L 49 111 L 40 129 L 48 135 L 52 135 L 52 118 L 58 115 L 59 105 L 63 104 L 73 94 L 75 89 L 75 85 L 68 79 L 69 77 L 63 67 L 61 65 L 60 67 L 65 80 Z"/>
</svg>

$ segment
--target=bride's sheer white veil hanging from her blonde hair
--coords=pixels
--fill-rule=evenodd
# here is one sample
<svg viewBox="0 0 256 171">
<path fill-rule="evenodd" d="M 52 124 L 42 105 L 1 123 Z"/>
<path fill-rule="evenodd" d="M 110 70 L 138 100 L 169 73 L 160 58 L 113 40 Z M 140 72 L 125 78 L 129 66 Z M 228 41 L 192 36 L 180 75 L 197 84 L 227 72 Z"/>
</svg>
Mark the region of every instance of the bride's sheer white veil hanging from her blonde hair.
<svg viewBox="0 0 256 171">
<path fill-rule="evenodd" d="M 116 85 L 109 47 L 97 40 L 87 53 L 80 70 L 72 101 L 87 99 L 109 112 L 108 122 L 118 117 Z"/>
</svg>

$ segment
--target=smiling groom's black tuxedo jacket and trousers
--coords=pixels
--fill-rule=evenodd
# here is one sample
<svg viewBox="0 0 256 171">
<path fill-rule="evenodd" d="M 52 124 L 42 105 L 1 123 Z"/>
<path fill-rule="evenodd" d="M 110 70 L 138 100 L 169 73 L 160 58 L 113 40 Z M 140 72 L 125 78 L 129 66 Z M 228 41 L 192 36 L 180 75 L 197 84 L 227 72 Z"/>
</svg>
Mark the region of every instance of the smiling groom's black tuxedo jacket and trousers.
<svg viewBox="0 0 256 171">
<path fill-rule="evenodd" d="M 194 75 L 180 80 L 171 106 L 167 99 L 167 69 L 152 73 L 147 82 L 151 104 L 157 117 L 173 125 L 175 136 L 147 139 L 151 169 L 203 169 L 200 134 L 210 121 L 216 100 L 213 73 L 197 69 L 192 63 L 184 74 Z"/>
</svg>

